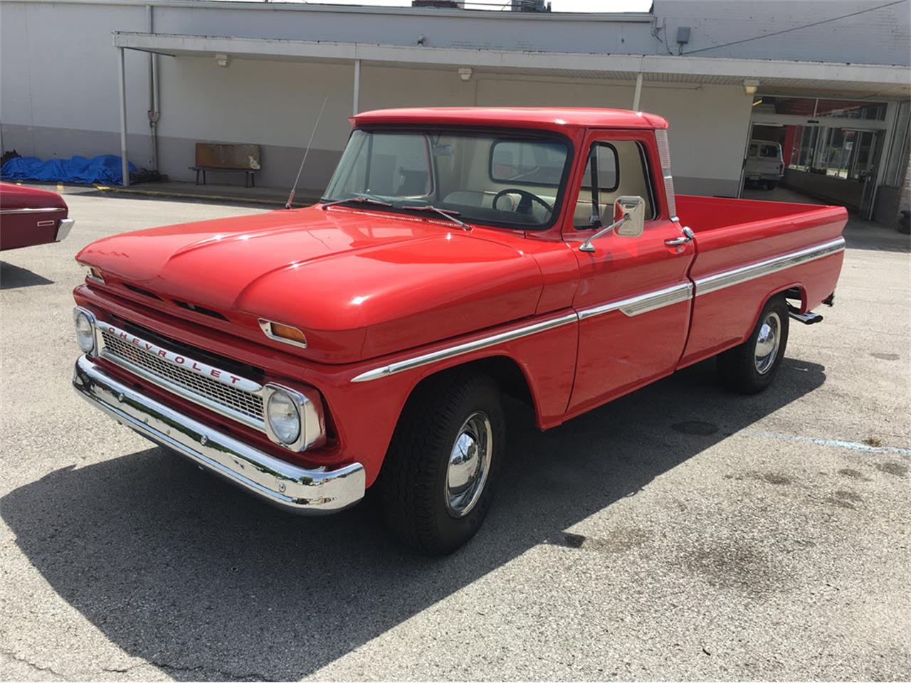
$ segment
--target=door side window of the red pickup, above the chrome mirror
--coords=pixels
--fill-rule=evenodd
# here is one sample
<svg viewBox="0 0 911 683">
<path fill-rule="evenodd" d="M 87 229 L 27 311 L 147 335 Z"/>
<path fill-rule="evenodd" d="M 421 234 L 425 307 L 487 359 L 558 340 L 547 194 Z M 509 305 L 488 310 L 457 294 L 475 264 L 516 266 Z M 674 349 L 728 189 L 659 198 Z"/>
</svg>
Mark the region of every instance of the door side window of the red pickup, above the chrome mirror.
<svg viewBox="0 0 911 683">
<path fill-rule="evenodd" d="M 595 188 L 593 175 L 597 178 Z M 645 199 L 646 220 L 655 218 L 654 193 L 644 148 L 633 140 L 594 143 L 578 190 L 573 227 L 593 227 L 593 215 L 599 217 L 599 225 L 609 225 L 604 221 L 613 215 L 614 202 L 625 196 Z"/>
</svg>

